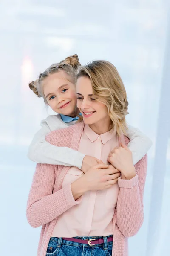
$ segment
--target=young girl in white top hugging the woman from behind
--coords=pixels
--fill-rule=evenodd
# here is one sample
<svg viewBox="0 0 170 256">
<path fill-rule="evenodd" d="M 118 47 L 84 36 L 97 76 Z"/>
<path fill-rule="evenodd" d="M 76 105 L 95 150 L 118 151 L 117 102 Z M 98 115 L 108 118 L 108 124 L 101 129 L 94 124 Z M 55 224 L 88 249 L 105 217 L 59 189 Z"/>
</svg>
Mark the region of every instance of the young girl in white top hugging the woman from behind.
<svg viewBox="0 0 170 256">
<path fill-rule="evenodd" d="M 85 173 L 100 161 L 71 148 L 51 145 L 45 140 L 46 134 L 50 131 L 74 125 L 79 118 L 75 86 L 79 66 L 78 56 L 73 55 L 60 63 L 51 65 L 40 73 L 39 79 L 29 84 L 31 90 L 38 97 L 43 97 L 45 104 L 59 114 L 50 115 L 42 120 L 42 128 L 31 142 L 28 157 L 37 163 L 77 166 Z M 130 139 L 128 147 L 133 154 L 133 164 L 136 164 L 147 153 L 152 143 L 139 129 L 130 125 L 127 127 L 126 135 Z"/>
</svg>

